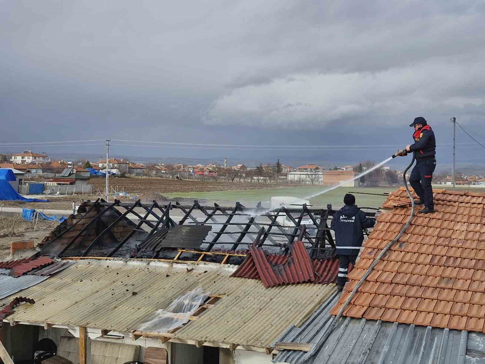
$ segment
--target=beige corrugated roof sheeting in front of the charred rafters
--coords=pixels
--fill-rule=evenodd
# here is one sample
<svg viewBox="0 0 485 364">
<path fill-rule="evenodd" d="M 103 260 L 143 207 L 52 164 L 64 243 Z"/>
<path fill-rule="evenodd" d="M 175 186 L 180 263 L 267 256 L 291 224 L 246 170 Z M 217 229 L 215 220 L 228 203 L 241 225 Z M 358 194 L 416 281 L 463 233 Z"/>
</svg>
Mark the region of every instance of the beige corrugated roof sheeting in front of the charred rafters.
<svg viewBox="0 0 485 364">
<path fill-rule="evenodd" d="M 188 266 L 194 270 L 187 271 Z M 177 331 L 176 339 L 268 347 L 336 289 L 333 284 L 312 283 L 266 289 L 261 281 L 229 277 L 234 269 L 231 265 L 82 260 L 22 292 L 37 304 L 9 319 L 127 332 L 180 294 L 202 287 L 223 298 Z"/>
</svg>

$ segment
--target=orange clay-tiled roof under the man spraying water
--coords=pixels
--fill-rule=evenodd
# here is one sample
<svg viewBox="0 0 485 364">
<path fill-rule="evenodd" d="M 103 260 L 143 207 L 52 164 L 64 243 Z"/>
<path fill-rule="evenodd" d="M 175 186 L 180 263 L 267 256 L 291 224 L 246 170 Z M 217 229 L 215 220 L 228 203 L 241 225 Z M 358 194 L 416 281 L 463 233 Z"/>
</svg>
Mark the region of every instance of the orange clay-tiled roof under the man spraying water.
<svg viewBox="0 0 485 364">
<path fill-rule="evenodd" d="M 343 315 L 456 330 L 485 322 L 485 194 L 435 190 L 436 213 L 416 214 L 360 286 Z M 409 218 L 404 188 L 389 195 L 346 291 Z M 416 210 L 422 206 L 416 206 Z M 373 295 L 372 299 L 369 299 Z M 331 311 L 337 314 L 345 294 Z"/>
</svg>

